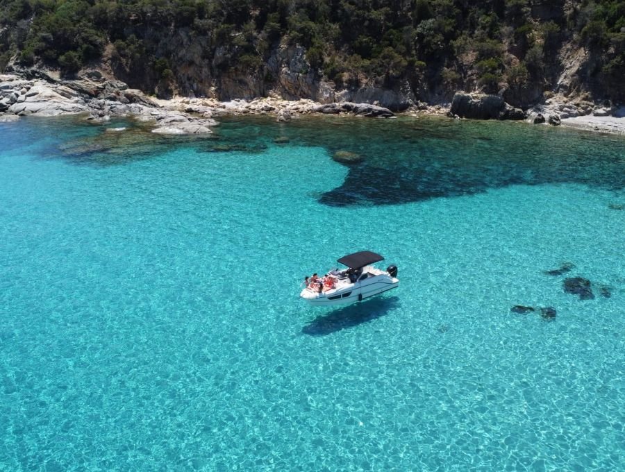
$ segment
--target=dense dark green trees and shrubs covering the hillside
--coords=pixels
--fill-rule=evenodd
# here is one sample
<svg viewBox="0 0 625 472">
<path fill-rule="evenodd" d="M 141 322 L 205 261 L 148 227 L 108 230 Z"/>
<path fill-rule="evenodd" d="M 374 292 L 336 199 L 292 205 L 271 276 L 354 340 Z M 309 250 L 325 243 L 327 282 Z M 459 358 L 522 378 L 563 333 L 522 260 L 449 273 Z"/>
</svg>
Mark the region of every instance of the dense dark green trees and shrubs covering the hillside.
<svg viewBox="0 0 625 472">
<path fill-rule="evenodd" d="M 172 44 L 199 58 L 182 64 Z M 0 69 L 16 58 L 72 74 L 108 53 L 149 91 L 192 62 L 270 84 L 279 44 L 305 48 L 337 87 L 504 87 L 512 101 L 553 88 L 562 53 L 584 47 L 579 83 L 625 100 L 625 0 L 0 0 Z"/>
</svg>

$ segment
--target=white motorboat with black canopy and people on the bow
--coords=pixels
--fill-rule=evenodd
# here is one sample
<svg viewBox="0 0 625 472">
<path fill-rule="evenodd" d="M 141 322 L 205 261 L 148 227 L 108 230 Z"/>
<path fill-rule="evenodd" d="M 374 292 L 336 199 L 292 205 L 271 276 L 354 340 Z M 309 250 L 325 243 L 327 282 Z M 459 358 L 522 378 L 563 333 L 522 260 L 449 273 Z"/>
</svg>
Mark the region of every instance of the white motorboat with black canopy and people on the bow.
<svg viewBox="0 0 625 472">
<path fill-rule="evenodd" d="M 372 265 L 381 260 L 383 256 L 371 251 L 345 255 L 337 262 L 347 269 L 329 271 L 318 282 L 310 282 L 299 296 L 315 306 L 343 305 L 397 288 L 397 266 L 383 271 Z"/>
</svg>

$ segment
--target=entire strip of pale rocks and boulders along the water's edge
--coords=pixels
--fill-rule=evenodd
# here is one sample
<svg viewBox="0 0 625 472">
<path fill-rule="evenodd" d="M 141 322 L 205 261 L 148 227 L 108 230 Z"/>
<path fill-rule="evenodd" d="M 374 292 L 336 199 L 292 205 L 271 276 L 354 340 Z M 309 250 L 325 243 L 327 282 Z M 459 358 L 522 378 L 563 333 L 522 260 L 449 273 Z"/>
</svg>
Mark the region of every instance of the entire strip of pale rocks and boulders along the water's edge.
<svg viewBox="0 0 625 472">
<path fill-rule="evenodd" d="M 525 120 L 532 124 L 625 135 L 625 107 L 605 108 L 587 101 L 568 101 L 563 96 L 554 96 L 524 111 L 512 108 L 497 95 L 458 92 L 451 103 L 434 106 L 417 103 L 403 113 L 447 115 L 456 119 Z M 133 117 L 149 124 L 153 133 L 162 135 L 210 135 L 211 128 L 218 125 L 215 119 L 226 115 L 272 115 L 277 121 L 310 114 L 394 117 L 391 110 L 369 103 L 317 103 L 272 97 L 227 102 L 185 97 L 159 100 L 128 88 L 121 81 L 108 80 L 98 71 L 88 71 L 72 81 L 37 69 L 0 75 L 0 123 L 16 121 L 22 116 L 79 114 L 100 122 Z"/>
</svg>

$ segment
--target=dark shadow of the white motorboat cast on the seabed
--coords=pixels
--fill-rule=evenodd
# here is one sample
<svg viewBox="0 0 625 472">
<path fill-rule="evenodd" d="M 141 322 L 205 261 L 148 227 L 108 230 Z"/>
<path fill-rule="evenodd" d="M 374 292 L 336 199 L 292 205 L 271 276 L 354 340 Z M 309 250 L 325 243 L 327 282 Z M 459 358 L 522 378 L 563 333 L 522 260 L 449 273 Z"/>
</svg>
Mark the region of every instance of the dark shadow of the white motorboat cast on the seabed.
<svg viewBox="0 0 625 472">
<path fill-rule="evenodd" d="M 398 302 L 399 296 L 391 296 L 348 305 L 313 319 L 301 329 L 301 332 L 310 336 L 331 335 L 333 332 L 383 317 L 399 307 Z"/>
</svg>

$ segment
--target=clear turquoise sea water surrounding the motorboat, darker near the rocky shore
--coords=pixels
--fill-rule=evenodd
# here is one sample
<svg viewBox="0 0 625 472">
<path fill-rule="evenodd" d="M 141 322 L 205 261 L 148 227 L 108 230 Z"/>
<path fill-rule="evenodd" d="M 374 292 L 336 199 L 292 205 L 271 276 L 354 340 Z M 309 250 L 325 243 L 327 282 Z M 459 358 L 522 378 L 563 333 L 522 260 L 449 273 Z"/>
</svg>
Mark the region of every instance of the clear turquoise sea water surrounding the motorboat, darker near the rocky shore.
<svg viewBox="0 0 625 472">
<path fill-rule="evenodd" d="M 47 119 L 0 142 L 0 469 L 625 468 L 622 139 Z M 300 303 L 306 273 L 361 249 L 399 289 Z"/>
</svg>

